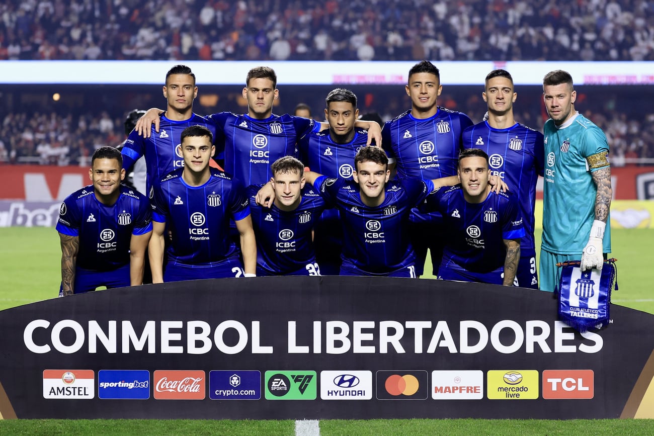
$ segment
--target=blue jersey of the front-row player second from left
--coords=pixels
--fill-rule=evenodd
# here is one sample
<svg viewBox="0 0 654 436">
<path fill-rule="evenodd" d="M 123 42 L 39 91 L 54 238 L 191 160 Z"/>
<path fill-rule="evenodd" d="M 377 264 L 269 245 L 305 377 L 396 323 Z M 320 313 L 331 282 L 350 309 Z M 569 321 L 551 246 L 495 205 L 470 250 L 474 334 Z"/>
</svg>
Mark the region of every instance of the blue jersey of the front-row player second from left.
<svg viewBox="0 0 654 436">
<path fill-rule="evenodd" d="M 249 203 L 245 192 L 218 169 L 211 168 L 211 178 L 202 186 L 188 186 L 182 171 L 173 171 L 154 186 L 152 219 L 172 231 L 169 261 L 213 265 L 237 253 L 230 220 L 246 218 Z"/>
</svg>

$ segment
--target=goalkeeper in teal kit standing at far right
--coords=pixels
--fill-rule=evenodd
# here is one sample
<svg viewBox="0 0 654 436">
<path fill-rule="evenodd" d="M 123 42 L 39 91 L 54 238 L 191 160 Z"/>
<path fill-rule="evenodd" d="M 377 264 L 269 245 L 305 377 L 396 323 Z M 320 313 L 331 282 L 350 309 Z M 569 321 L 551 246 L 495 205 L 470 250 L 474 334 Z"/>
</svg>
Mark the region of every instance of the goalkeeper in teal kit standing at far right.
<svg viewBox="0 0 654 436">
<path fill-rule="evenodd" d="M 602 269 L 611 252 L 611 167 L 606 135 L 574 108 L 572 76 L 543 78 L 545 183 L 540 288 L 559 286 L 557 262 L 581 259 L 581 270 Z"/>
</svg>

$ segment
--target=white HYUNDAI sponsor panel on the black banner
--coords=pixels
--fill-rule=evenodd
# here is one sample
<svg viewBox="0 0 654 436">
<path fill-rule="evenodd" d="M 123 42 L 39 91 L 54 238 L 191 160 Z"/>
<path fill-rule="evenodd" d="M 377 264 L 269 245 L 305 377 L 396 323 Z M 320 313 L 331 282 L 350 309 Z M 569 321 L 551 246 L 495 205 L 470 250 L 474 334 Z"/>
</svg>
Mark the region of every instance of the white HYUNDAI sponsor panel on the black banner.
<svg viewBox="0 0 654 436">
<path fill-rule="evenodd" d="M 372 399 L 372 371 L 320 371 L 321 399 Z"/>
</svg>

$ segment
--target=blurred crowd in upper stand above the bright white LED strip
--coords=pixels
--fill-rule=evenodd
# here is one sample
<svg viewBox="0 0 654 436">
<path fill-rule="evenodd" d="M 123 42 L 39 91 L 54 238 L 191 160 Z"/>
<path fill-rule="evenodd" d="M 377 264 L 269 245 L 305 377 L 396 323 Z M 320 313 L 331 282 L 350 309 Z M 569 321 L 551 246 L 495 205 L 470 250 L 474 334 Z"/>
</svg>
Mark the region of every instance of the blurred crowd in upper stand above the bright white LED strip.
<svg viewBox="0 0 654 436">
<path fill-rule="evenodd" d="M 647 0 L 9 0 L 0 59 L 654 60 Z"/>
</svg>

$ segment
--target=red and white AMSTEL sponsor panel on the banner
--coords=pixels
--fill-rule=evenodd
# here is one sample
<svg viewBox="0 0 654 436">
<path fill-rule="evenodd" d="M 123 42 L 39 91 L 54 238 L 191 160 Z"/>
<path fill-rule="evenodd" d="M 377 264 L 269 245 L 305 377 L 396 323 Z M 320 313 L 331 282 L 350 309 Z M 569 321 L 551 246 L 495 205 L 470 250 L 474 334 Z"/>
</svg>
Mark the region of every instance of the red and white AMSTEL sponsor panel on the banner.
<svg viewBox="0 0 654 436">
<path fill-rule="evenodd" d="M 92 399 L 95 397 L 95 373 L 92 369 L 46 369 L 43 371 L 43 397 Z"/>
</svg>

